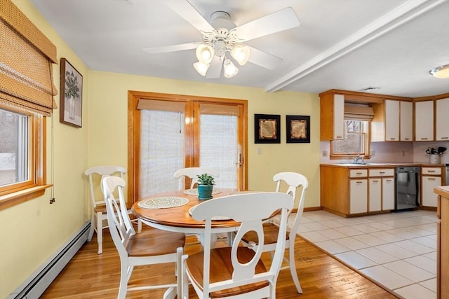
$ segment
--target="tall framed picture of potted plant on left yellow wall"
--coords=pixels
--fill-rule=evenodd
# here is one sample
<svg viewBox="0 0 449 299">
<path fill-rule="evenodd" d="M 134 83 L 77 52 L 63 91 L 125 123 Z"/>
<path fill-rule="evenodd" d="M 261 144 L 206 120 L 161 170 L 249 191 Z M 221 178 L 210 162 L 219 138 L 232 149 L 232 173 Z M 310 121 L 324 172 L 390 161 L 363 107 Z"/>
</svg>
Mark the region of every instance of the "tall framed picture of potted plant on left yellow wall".
<svg viewBox="0 0 449 299">
<path fill-rule="evenodd" d="M 81 127 L 83 76 L 65 58 L 61 58 L 59 121 Z"/>
</svg>

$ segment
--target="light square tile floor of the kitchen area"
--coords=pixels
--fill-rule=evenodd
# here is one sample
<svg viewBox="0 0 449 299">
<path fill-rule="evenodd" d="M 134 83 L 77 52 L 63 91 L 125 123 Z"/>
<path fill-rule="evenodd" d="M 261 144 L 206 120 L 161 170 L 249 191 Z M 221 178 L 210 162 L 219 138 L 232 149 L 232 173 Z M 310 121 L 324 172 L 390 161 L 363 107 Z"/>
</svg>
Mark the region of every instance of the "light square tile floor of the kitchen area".
<svg viewBox="0 0 449 299">
<path fill-rule="evenodd" d="M 436 212 L 306 211 L 298 234 L 406 299 L 436 298 Z"/>
</svg>

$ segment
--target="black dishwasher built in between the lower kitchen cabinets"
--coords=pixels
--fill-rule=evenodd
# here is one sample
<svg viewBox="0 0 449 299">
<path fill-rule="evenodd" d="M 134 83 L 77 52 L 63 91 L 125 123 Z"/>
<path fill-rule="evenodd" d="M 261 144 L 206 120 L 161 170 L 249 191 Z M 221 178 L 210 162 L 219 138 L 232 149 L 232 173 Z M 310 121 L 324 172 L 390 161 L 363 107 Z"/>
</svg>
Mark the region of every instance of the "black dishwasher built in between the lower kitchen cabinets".
<svg viewBox="0 0 449 299">
<path fill-rule="evenodd" d="M 396 167 L 395 211 L 415 209 L 419 205 L 420 167 Z"/>
</svg>

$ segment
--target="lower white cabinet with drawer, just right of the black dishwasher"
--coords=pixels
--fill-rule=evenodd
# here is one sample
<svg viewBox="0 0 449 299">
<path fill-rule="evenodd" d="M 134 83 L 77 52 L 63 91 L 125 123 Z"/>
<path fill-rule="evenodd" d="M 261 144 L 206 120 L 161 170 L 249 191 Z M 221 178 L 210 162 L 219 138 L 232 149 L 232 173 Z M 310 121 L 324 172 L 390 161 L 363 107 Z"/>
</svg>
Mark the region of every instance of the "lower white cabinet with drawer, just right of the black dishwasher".
<svg viewBox="0 0 449 299">
<path fill-rule="evenodd" d="M 441 186 L 441 167 L 421 167 L 421 204 L 436 207 L 434 188 Z"/>
</svg>

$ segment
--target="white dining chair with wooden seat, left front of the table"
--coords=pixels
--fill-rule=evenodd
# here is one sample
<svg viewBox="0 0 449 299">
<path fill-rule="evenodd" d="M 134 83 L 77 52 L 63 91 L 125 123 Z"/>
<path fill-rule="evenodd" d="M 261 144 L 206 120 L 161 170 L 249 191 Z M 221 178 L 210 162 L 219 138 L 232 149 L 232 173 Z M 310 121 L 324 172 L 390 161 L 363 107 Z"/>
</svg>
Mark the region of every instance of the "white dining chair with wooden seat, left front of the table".
<svg viewBox="0 0 449 299">
<path fill-rule="evenodd" d="M 156 288 L 167 288 L 163 298 L 175 298 L 175 295 L 180 298 L 182 287 L 180 263 L 185 235 L 181 232 L 168 232 L 150 227 L 136 234 L 123 196 L 125 181 L 117 176 L 109 176 L 102 179 L 102 186 L 109 231 L 120 257 L 120 285 L 117 298 L 124 299 L 128 291 Z M 119 194 L 117 198 L 114 197 L 115 191 Z M 128 287 L 135 266 L 160 263 L 175 263 L 175 283 Z"/>
</svg>

